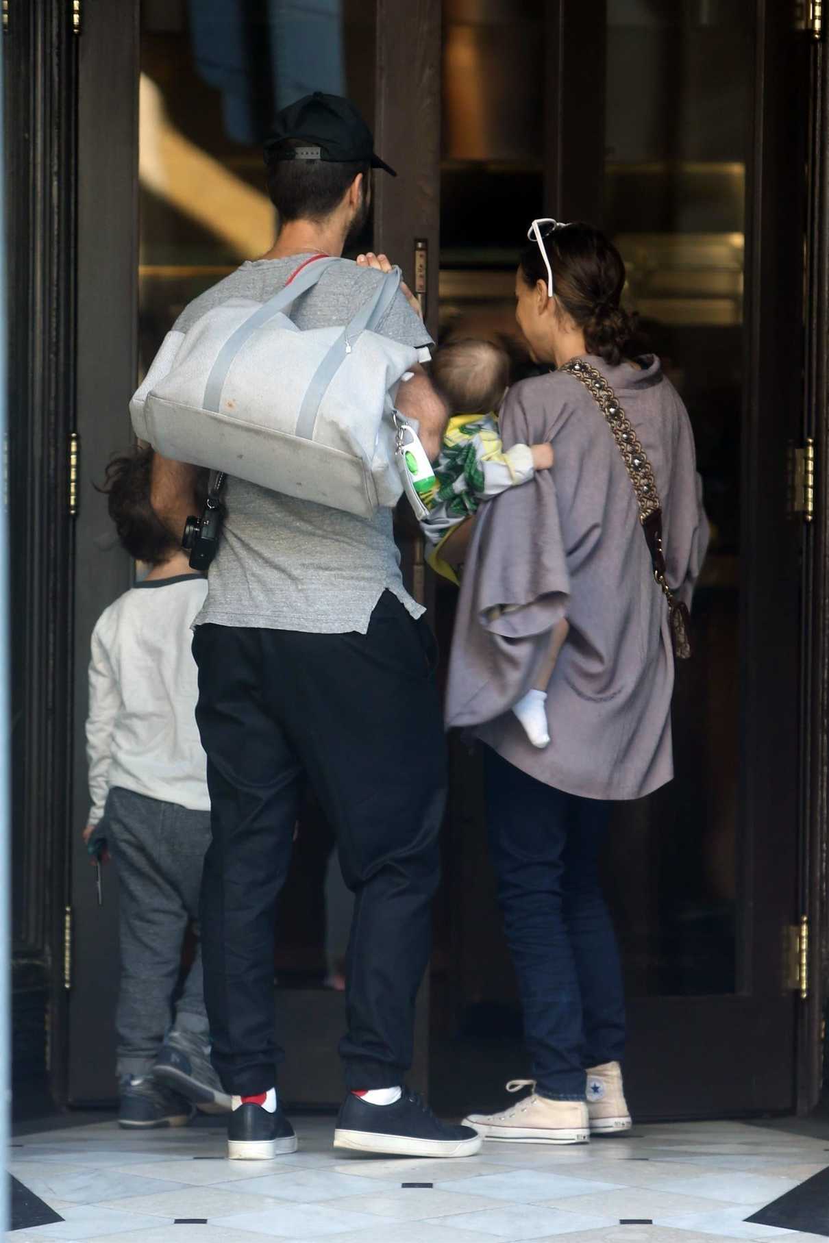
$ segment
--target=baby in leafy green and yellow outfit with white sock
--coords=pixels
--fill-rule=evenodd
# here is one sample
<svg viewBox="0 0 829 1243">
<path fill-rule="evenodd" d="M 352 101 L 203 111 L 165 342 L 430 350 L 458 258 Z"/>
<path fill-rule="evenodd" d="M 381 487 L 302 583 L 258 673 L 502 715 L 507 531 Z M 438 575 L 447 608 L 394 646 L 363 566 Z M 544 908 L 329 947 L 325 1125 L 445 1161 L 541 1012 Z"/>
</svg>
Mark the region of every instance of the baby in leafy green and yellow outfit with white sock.
<svg viewBox="0 0 829 1243">
<path fill-rule="evenodd" d="M 440 556 L 445 541 L 476 513 L 481 501 L 526 484 L 538 470 L 549 470 L 553 446 L 518 444 L 505 450 L 497 410 L 507 392 L 510 358 L 498 346 L 474 339 L 451 342 L 435 353 L 431 377 L 450 410 L 459 413 L 449 420 L 435 462 L 437 488 L 423 497 L 430 512 L 421 527 L 431 544 L 426 561 L 456 583 L 455 572 Z M 568 629 L 566 620 L 554 628 L 534 686 L 512 709 L 536 747 L 549 743 L 547 686 Z"/>
</svg>

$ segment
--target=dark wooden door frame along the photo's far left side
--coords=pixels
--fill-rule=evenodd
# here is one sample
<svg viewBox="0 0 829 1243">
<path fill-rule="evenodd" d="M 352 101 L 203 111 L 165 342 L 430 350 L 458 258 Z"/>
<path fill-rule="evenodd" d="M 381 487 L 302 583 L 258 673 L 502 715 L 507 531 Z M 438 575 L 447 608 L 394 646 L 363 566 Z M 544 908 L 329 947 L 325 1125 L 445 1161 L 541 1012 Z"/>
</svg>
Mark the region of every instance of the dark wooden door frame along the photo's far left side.
<svg viewBox="0 0 829 1243">
<path fill-rule="evenodd" d="M 77 39 L 62 0 L 11 0 L 2 39 L 9 262 L 15 1089 L 66 1094 Z"/>
</svg>

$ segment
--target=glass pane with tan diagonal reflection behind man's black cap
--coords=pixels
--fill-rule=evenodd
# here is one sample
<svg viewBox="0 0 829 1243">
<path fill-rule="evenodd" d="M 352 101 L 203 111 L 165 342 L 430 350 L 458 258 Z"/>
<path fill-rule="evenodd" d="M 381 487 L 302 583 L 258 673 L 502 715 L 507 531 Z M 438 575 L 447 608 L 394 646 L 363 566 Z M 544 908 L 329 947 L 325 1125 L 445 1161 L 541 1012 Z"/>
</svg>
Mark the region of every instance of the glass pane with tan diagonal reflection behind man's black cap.
<svg viewBox="0 0 829 1243">
<path fill-rule="evenodd" d="M 372 121 L 374 7 L 372 0 L 142 4 L 142 373 L 193 297 L 272 245 L 261 142 L 273 113 L 311 91 L 332 91 Z"/>
</svg>

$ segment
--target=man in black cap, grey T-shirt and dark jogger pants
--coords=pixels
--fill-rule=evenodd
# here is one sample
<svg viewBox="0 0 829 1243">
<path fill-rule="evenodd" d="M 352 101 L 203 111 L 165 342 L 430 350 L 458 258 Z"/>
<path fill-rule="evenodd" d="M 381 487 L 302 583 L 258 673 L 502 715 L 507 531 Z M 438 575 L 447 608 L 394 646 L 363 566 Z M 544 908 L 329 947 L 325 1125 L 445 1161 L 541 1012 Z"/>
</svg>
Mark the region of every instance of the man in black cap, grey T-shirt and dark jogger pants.
<svg viewBox="0 0 829 1243">
<path fill-rule="evenodd" d="M 266 165 L 280 216 L 275 246 L 196 298 L 179 329 L 226 298 L 266 301 L 314 255 L 342 255 L 367 219 L 372 168 L 394 175 L 353 104 L 319 93 L 280 113 Z M 332 265 L 296 303 L 297 326 L 348 322 L 383 278 L 374 267 L 388 262 Z M 433 342 L 411 303 L 400 292 L 378 331 L 426 362 Z M 446 414 L 420 365 L 398 405 L 418 419 L 435 457 Z M 158 462 L 153 505 L 178 532 L 193 512 L 194 477 L 193 467 Z M 341 1044 L 349 1090 L 334 1144 L 471 1155 L 476 1132 L 440 1122 L 404 1088 L 446 778 L 434 640 L 403 587 L 392 512 L 363 520 L 235 479 L 225 496 L 194 653 L 213 807 L 201 897 L 205 999 L 213 1060 L 234 1098 L 229 1155 L 296 1150 L 276 1093 L 273 929 L 306 778 L 354 894 Z"/>
</svg>

